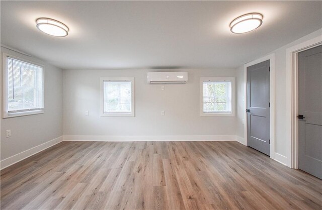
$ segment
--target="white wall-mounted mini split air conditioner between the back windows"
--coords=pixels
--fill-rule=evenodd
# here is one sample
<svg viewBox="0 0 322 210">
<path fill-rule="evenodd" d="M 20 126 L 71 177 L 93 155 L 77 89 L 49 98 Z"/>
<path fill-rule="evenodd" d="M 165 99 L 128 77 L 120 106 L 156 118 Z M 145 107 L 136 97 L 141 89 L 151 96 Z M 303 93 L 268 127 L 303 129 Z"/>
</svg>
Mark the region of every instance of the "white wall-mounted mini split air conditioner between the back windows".
<svg viewBox="0 0 322 210">
<path fill-rule="evenodd" d="M 188 72 L 148 72 L 147 83 L 149 84 L 184 84 L 188 81 Z"/>
</svg>

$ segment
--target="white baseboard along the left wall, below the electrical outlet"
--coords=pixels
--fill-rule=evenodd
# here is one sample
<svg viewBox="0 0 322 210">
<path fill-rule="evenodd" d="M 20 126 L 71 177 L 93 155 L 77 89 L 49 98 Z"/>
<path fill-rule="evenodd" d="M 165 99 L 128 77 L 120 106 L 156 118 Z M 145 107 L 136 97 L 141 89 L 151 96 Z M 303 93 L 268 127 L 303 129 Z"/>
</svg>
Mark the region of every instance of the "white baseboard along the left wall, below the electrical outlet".
<svg viewBox="0 0 322 210">
<path fill-rule="evenodd" d="M 4 160 L 2 160 L 0 162 L 0 165 L 1 165 L 1 170 L 4 169 L 4 168 L 7 168 L 8 166 L 11 166 L 19 161 L 22 161 L 38 152 L 41 152 L 49 147 L 52 147 L 54 146 L 55 144 L 58 144 L 59 142 L 62 142 L 63 141 L 63 136 L 60 136 L 56 139 L 53 139 L 53 140 L 50 140 L 48 142 L 45 142 L 41 145 L 38 145 L 36 147 L 33 147 L 31 149 L 28 149 L 26 151 L 23 151 L 21 153 L 18 153 L 16 155 L 13 155 L 9 158 L 6 158 Z"/>
</svg>

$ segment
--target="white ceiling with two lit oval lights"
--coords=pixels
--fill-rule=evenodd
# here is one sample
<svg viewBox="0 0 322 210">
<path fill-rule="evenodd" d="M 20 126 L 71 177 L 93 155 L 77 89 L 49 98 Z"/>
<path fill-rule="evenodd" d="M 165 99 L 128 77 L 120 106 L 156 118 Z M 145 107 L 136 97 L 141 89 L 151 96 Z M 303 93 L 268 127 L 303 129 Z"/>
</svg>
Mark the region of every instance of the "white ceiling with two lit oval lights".
<svg viewBox="0 0 322 210">
<path fill-rule="evenodd" d="M 232 34 L 236 17 L 263 25 Z M 40 17 L 69 27 L 41 33 Z M 1 1 L 1 44 L 62 69 L 234 68 L 322 28 L 322 1 Z"/>
</svg>

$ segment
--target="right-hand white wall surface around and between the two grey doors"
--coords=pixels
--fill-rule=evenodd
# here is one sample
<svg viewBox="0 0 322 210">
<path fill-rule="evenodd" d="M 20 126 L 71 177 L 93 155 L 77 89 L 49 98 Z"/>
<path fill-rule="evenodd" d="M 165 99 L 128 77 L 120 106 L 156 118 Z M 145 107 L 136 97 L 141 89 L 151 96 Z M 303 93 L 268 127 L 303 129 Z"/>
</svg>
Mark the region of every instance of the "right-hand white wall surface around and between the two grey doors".
<svg viewBox="0 0 322 210">
<path fill-rule="evenodd" d="M 285 46 L 282 46 L 271 53 L 275 53 L 275 121 L 276 121 L 276 139 L 275 139 L 275 154 L 277 157 L 279 157 L 279 161 L 286 164 L 287 159 L 291 158 L 291 148 L 289 148 L 289 142 L 291 141 L 289 138 L 287 138 L 287 133 L 290 132 L 290 111 L 287 109 L 288 103 L 290 101 L 290 84 L 287 84 L 287 77 L 286 77 L 286 49 L 297 45 L 299 43 L 302 43 L 304 41 L 310 40 L 312 38 L 315 38 L 317 36 L 321 35 L 322 30 L 317 30 L 313 33 L 310 33 L 294 42 L 291 42 Z M 261 56 L 264 57 L 264 56 Z M 259 59 L 261 57 L 255 58 Z M 237 79 L 239 81 L 246 81 L 246 78 L 244 78 L 244 74 L 240 73 L 241 71 L 244 71 L 244 66 L 240 66 L 237 69 L 238 72 L 236 72 Z M 241 82 L 243 83 L 243 82 Z M 243 85 L 239 83 L 240 85 Z M 244 88 L 242 86 L 237 86 L 238 88 Z M 238 98 L 240 98 L 241 92 L 238 91 Z M 241 105 L 241 104 L 240 104 Z M 245 111 L 245 105 L 244 106 L 237 106 L 237 113 L 238 110 L 241 112 Z M 240 116 L 241 119 L 237 120 L 236 128 L 240 128 L 243 125 L 243 122 L 245 121 L 244 116 Z M 244 137 L 244 131 L 243 130 L 236 130 L 236 135 L 243 138 Z"/>
</svg>

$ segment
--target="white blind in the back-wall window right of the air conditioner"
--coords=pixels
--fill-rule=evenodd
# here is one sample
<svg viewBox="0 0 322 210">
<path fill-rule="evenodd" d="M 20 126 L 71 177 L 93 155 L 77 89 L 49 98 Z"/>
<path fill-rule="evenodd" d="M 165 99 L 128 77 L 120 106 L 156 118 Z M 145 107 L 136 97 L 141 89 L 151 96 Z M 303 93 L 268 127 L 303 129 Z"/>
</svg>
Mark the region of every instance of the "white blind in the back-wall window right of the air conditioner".
<svg viewBox="0 0 322 210">
<path fill-rule="evenodd" d="M 231 112 L 231 81 L 203 81 L 203 112 Z"/>
</svg>

